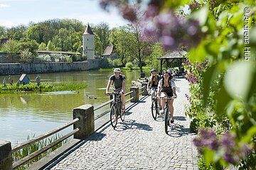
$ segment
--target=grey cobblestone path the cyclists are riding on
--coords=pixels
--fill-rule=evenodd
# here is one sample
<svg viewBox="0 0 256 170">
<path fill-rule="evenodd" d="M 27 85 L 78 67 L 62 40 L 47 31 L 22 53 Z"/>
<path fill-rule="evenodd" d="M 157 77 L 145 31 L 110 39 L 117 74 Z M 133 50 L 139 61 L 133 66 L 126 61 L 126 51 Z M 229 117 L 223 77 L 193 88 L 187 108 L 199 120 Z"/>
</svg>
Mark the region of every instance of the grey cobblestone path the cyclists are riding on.
<svg viewBox="0 0 256 170">
<path fill-rule="evenodd" d="M 175 130 L 169 135 L 162 118 L 152 118 L 147 96 L 128 109 L 126 123 L 119 120 L 116 130 L 108 123 L 47 169 L 197 169 L 197 151 L 184 115 L 188 84 L 178 79 L 176 86 Z"/>
</svg>

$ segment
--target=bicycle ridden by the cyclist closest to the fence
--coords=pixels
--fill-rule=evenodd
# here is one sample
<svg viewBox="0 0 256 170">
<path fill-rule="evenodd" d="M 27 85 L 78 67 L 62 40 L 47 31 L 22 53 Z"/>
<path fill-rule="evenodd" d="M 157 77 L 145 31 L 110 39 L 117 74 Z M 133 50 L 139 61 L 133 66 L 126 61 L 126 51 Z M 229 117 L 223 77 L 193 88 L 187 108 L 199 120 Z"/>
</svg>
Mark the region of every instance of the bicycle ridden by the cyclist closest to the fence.
<svg viewBox="0 0 256 170">
<path fill-rule="evenodd" d="M 122 122 L 124 123 L 125 118 L 125 111 L 121 110 L 122 107 L 122 101 L 121 101 L 121 94 L 112 92 L 110 93 L 112 95 L 112 105 L 110 108 L 110 123 L 113 128 L 116 128 L 117 126 L 117 119 L 120 116 Z"/>
</svg>

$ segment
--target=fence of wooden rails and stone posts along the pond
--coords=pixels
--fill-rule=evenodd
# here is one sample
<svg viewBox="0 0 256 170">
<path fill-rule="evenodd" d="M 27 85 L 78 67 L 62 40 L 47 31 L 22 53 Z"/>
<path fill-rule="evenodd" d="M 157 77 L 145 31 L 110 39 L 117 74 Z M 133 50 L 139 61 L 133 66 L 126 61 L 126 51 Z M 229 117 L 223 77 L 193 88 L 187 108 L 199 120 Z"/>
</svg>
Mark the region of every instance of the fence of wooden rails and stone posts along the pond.
<svg viewBox="0 0 256 170">
<path fill-rule="evenodd" d="M 140 88 L 137 86 L 131 87 L 130 91 L 127 94 L 125 94 L 125 96 L 130 95 L 129 99 L 126 100 L 126 103 L 129 101 L 132 103 L 136 103 L 137 101 L 139 101 L 139 95 L 141 94 L 144 96 L 147 95 L 146 83 L 142 83 L 142 87 Z M 49 132 L 46 132 L 43 135 L 34 137 L 31 140 L 27 140 L 26 142 L 23 142 L 20 145 L 16 145 L 13 148 L 11 148 L 11 142 L 0 141 L 0 169 L 5 169 L 5 170 L 16 169 L 18 166 L 26 164 L 26 162 L 29 162 L 31 159 L 37 157 L 43 152 L 46 152 L 51 147 L 57 145 L 58 143 L 62 142 L 63 140 L 67 139 L 72 135 L 74 135 L 74 139 L 85 140 L 86 137 L 88 137 L 93 132 L 95 132 L 95 120 L 101 118 L 103 115 L 106 115 L 107 113 L 110 112 L 110 110 L 108 110 L 95 117 L 94 115 L 95 111 L 97 111 L 98 109 L 104 106 L 107 106 L 111 102 L 112 102 L 112 99 L 110 99 L 110 101 L 102 103 L 100 106 L 95 106 L 95 108 L 92 105 L 83 105 L 78 108 L 74 108 L 73 120 L 70 121 L 69 123 L 66 123 L 65 125 L 62 125 L 58 128 L 55 128 L 54 130 L 50 130 Z M 68 134 L 58 138 L 58 140 L 51 142 L 45 147 L 38 149 L 36 152 L 28 154 L 28 156 L 22 159 L 19 159 L 16 162 L 13 162 L 12 153 L 18 151 L 19 149 L 23 149 L 24 147 L 31 145 L 35 142 L 46 139 L 50 135 L 56 134 L 57 132 L 60 132 L 60 130 L 68 128 L 71 125 L 73 125 L 73 131 L 68 132 Z"/>
</svg>

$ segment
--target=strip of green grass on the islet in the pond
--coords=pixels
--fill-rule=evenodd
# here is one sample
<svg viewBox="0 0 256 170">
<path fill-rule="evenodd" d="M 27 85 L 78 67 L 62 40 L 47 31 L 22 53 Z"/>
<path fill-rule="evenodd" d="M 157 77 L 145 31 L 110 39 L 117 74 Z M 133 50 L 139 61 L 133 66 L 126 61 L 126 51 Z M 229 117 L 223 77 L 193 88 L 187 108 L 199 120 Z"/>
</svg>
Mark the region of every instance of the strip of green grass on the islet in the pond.
<svg viewBox="0 0 256 170">
<path fill-rule="evenodd" d="M 16 86 L 16 84 L 7 84 L 4 86 L 0 85 L 0 94 L 17 94 L 23 91 L 33 91 L 33 92 L 49 92 L 49 91 L 78 91 L 80 89 L 85 89 L 87 84 L 78 82 L 60 83 L 60 84 L 49 84 L 44 83 L 37 86 L 37 84 L 21 84 Z"/>
</svg>

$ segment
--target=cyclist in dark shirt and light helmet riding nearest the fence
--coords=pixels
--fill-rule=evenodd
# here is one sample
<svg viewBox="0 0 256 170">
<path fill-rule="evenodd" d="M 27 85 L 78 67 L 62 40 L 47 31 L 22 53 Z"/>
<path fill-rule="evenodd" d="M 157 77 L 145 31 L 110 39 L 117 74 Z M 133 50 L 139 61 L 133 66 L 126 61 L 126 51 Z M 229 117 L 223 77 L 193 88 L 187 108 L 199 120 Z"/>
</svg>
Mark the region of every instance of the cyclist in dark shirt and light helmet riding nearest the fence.
<svg viewBox="0 0 256 170">
<path fill-rule="evenodd" d="M 121 69 L 114 69 L 114 74 L 110 76 L 107 83 L 106 94 L 110 94 L 110 85 L 114 84 L 114 91 L 121 94 L 122 111 L 125 110 L 124 92 L 125 92 L 125 77 L 121 74 Z"/>
</svg>

